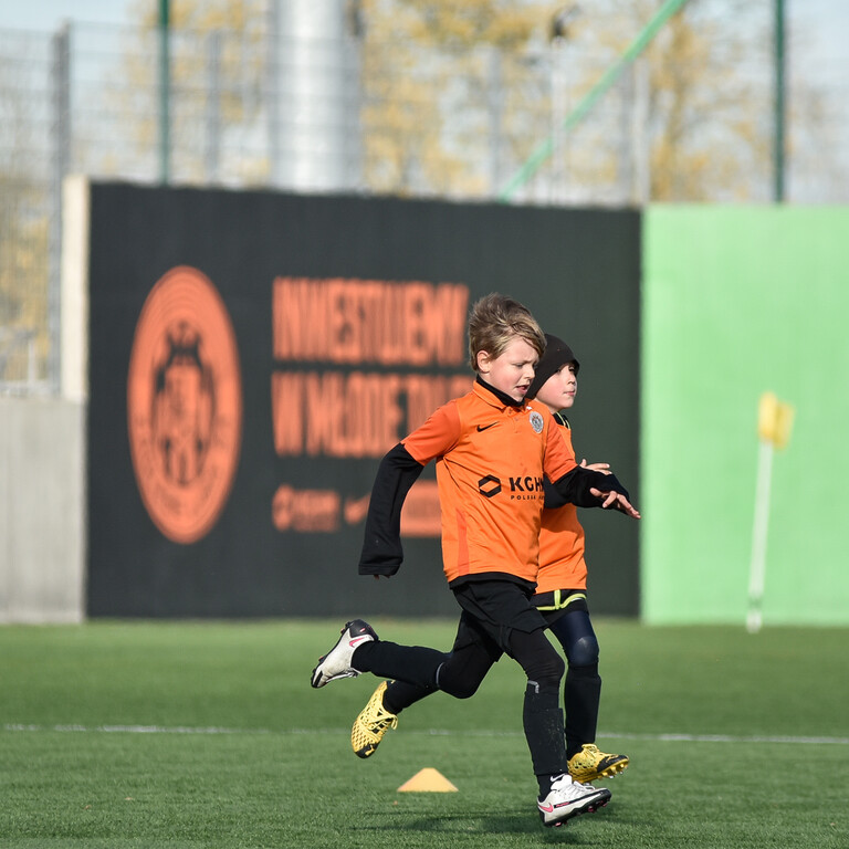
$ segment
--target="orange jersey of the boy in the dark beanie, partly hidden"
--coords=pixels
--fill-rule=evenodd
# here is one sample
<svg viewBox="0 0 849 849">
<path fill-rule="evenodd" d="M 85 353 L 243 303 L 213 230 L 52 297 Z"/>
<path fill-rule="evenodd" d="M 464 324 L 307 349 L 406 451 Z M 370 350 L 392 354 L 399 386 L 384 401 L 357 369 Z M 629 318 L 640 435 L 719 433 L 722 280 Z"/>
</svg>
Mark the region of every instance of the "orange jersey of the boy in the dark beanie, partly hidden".
<svg viewBox="0 0 849 849">
<path fill-rule="evenodd" d="M 558 428 L 558 430 L 574 461 L 572 430 L 568 427 Z M 537 594 L 552 593 L 556 589 L 586 589 L 587 564 L 584 560 L 584 528 L 578 522 L 578 511 L 574 504 L 544 510 L 539 531 Z"/>
</svg>

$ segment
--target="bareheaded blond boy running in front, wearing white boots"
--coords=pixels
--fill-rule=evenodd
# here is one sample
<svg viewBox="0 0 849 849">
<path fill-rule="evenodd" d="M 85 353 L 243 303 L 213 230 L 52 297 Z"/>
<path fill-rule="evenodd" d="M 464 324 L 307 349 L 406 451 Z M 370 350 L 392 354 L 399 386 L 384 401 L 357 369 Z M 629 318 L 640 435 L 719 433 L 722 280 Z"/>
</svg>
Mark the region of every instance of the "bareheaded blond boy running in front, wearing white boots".
<svg viewBox="0 0 849 849">
<path fill-rule="evenodd" d="M 391 576 L 403 558 L 400 514 L 424 465 L 437 461 L 442 560 L 461 615 L 449 654 L 380 640 L 361 619 L 342 629 L 312 673 L 315 688 L 371 672 L 427 693 L 471 696 L 502 654 L 527 677 L 523 726 L 543 824 L 559 826 L 607 804 L 610 792 L 568 773 L 559 685 L 564 662 L 534 607 L 543 479 L 569 503 L 639 513 L 615 475 L 576 464 L 551 412 L 526 399 L 545 336 L 517 301 L 488 295 L 469 318 L 472 390 L 440 407 L 380 462 L 361 575 Z"/>
</svg>

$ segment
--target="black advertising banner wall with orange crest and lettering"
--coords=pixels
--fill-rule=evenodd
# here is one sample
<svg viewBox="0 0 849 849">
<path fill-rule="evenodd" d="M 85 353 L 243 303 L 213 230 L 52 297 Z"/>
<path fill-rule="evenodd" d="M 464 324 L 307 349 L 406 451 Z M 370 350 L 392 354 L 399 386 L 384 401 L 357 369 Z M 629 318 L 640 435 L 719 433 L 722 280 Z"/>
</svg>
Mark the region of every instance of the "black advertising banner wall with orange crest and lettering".
<svg viewBox="0 0 849 849">
<path fill-rule="evenodd" d="M 580 359 L 578 459 L 639 505 L 639 213 L 94 184 L 90 616 L 454 616 L 432 469 L 357 575 L 382 454 L 468 391 L 465 322 L 526 304 Z M 581 511 L 591 609 L 638 612 L 638 523 Z"/>
</svg>

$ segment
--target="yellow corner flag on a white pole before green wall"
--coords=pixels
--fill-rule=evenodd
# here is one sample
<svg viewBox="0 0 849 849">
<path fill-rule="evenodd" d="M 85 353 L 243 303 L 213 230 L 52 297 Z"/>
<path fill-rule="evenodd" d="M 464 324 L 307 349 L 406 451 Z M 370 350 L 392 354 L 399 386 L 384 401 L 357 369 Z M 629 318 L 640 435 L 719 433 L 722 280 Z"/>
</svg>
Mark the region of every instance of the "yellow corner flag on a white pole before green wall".
<svg viewBox="0 0 849 849">
<path fill-rule="evenodd" d="M 755 518 L 752 527 L 752 564 L 748 573 L 748 614 L 746 630 L 757 633 L 763 625 L 764 586 L 766 584 L 766 537 L 769 525 L 769 492 L 775 448 L 785 448 L 790 438 L 794 409 L 782 403 L 773 392 L 761 396 L 757 416 L 759 438 Z"/>
</svg>

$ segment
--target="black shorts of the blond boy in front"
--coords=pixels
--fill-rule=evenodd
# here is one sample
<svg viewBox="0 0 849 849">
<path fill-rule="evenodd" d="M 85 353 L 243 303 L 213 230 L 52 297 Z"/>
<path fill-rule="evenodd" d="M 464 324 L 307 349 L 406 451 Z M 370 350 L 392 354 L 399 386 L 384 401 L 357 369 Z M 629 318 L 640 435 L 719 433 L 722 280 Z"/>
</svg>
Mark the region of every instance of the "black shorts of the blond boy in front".
<svg viewBox="0 0 849 849">
<path fill-rule="evenodd" d="M 533 590 L 512 580 L 470 580 L 452 588 L 463 612 L 454 651 L 470 642 L 483 643 L 493 660 L 510 654 L 512 631 L 531 633 L 546 627 L 534 607 Z"/>
</svg>

